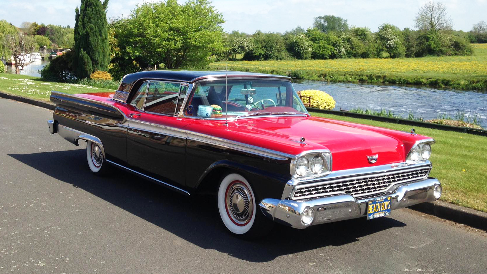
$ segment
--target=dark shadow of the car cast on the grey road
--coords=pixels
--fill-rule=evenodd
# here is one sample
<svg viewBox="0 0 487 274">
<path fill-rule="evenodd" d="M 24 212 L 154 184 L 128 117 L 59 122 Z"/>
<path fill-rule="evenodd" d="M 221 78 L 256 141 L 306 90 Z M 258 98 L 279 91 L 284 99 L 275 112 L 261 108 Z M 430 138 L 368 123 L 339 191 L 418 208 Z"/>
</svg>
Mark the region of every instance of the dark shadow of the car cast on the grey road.
<svg viewBox="0 0 487 274">
<path fill-rule="evenodd" d="M 161 229 L 204 249 L 214 249 L 251 262 L 358 241 L 392 227 L 406 226 L 393 218 L 365 218 L 312 226 L 305 230 L 276 225 L 267 237 L 244 241 L 226 233 L 211 196 L 186 197 L 120 171 L 93 175 L 84 150 L 8 154 L 38 171 L 98 196 Z M 46 160 L 49 159 L 49 160 Z"/>
</svg>

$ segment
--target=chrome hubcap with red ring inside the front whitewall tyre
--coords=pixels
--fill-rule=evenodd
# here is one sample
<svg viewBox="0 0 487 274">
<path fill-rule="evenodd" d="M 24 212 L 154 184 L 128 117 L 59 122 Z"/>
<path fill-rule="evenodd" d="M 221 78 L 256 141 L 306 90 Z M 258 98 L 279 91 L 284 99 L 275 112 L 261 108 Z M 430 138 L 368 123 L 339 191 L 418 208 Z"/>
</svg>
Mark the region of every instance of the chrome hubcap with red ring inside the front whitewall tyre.
<svg viewBox="0 0 487 274">
<path fill-rule="evenodd" d="M 243 183 L 235 182 L 228 186 L 226 206 L 228 215 L 238 224 L 245 224 L 252 217 L 252 196 Z"/>
</svg>

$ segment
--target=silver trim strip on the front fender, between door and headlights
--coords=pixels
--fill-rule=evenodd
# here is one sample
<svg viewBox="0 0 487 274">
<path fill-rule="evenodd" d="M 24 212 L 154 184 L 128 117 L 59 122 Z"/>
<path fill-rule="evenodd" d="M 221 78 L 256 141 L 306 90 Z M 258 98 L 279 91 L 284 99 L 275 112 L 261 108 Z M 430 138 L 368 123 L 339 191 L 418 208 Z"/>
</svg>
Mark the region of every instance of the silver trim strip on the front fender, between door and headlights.
<svg viewBox="0 0 487 274">
<path fill-rule="evenodd" d="M 287 160 L 294 157 L 293 155 L 282 153 L 275 150 L 265 149 L 262 147 L 257 147 L 249 144 L 244 144 L 237 141 L 232 141 L 224 138 L 214 137 L 206 134 L 201 134 L 197 132 L 187 131 L 187 138 L 194 141 L 200 141 L 208 144 L 217 145 L 220 147 L 225 147 L 228 149 L 235 149 L 242 152 L 272 158 L 276 160 Z"/>
</svg>

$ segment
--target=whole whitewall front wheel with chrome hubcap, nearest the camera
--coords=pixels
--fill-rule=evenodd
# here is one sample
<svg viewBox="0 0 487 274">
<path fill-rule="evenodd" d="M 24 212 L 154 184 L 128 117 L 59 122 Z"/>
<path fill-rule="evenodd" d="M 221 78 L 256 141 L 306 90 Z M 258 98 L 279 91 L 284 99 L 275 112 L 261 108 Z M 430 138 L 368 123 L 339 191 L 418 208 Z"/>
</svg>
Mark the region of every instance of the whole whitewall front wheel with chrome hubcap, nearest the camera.
<svg viewBox="0 0 487 274">
<path fill-rule="evenodd" d="M 256 208 L 256 197 L 248 181 L 231 173 L 223 177 L 217 195 L 218 211 L 228 231 L 243 238 L 267 234 L 272 222 Z"/>
</svg>

